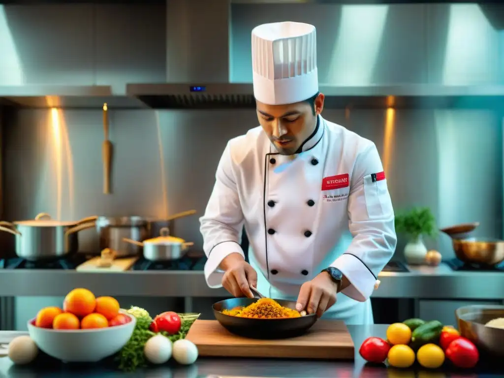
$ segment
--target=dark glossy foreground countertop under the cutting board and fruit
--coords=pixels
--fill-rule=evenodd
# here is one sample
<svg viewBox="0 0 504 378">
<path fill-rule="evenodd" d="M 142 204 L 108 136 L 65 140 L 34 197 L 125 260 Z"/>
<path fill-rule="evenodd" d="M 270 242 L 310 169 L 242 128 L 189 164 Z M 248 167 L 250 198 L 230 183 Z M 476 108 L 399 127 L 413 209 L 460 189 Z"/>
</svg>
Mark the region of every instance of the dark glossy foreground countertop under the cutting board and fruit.
<svg viewBox="0 0 504 378">
<path fill-rule="evenodd" d="M 278 360 L 278 359 L 226 359 L 200 358 L 187 367 L 165 366 L 139 370 L 136 373 L 121 373 L 105 364 L 72 365 L 63 364 L 52 359 L 41 360 L 27 367 L 14 366 L 9 358 L 0 358 L 0 376 L 6 377 L 120 377 L 142 376 L 173 377 L 173 378 L 224 378 L 224 377 L 340 377 L 340 378 L 380 378 L 401 377 L 443 378 L 449 376 L 463 377 L 497 377 L 502 376 L 495 362 L 485 361 L 483 367 L 474 370 L 453 370 L 449 366 L 445 370 L 428 371 L 417 368 L 397 370 L 385 366 L 368 366 L 358 354 L 360 344 L 369 336 L 385 337 L 387 325 L 348 326 L 355 344 L 355 361 L 316 361 L 316 360 Z M 483 361 L 482 361 L 483 362 Z M 488 362 L 488 363 L 487 363 Z M 448 364 L 447 364 L 448 365 Z M 500 373 L 497 373 L 500 371 Z M 416 373 L 416 374 L 415 374 Z"/>
</svg>

